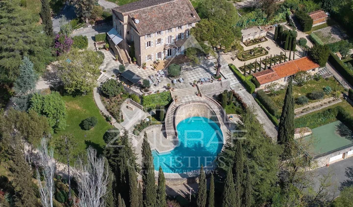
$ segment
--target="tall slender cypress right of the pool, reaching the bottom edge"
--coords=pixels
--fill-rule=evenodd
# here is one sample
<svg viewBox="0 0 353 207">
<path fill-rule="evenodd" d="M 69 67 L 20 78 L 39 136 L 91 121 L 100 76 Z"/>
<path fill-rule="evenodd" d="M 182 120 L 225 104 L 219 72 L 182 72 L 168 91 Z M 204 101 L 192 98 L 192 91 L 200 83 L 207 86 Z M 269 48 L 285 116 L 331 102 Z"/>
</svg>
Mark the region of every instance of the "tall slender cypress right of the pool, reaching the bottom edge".
<svg viewBox="0 0 353 207">
<path fill-rule="evenodd" d="M 233 179 L 235 184 L 235 195 L 236 202 L 235 206 L 240 206 L 241 204 L 241 195 L 243 194 L 243 189 L 241 183 L 243 182 L 243 147 L 241 146 L 241 140 L 235 142 L 235 151 L 234 151 L 234 163 L 233 163 Z"/>
</svg>

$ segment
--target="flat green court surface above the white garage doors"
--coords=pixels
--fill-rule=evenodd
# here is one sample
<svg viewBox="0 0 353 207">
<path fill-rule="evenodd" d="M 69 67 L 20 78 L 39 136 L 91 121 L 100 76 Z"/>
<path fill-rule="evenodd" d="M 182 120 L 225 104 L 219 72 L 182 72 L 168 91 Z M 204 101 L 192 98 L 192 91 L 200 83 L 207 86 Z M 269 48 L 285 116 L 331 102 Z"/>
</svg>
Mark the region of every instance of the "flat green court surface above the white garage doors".
<svg viewBox="0 0 353 207">
<path fill-rule="evenodd" d="M 314 136 L 316 146 L 311 153 L 322 154 L 353 143 L 352 131 L 341 121 L 331 122 L 321 127 L 313 128 L 312 135 L 305 137 L 305 140 Z"/>
</svg>

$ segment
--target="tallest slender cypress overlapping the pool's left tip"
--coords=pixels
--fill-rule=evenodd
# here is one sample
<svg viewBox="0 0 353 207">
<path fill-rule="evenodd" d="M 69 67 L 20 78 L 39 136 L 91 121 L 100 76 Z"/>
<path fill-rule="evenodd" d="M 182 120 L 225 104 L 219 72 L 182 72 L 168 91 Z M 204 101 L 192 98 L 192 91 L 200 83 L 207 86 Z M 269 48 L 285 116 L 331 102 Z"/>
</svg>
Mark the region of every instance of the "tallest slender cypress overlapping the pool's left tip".
<svg viewBox="0 0 353 207">
<path fill-rule="evenodd" d="M 143 183 L 143 205 L 154 206 L 156 203 L 156 184 L 151 147 L 145 132 L 142 143 L 142 183 Z"/>
</svg>

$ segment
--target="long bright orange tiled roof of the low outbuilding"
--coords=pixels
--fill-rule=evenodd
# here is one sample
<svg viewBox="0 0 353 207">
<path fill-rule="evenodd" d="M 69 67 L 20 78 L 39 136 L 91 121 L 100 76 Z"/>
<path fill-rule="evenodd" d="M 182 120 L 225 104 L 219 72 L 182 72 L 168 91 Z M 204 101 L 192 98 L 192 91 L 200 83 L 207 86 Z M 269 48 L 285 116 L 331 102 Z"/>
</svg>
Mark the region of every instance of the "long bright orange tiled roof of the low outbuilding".
<svg viewBox="0 0 353 207">
<path fill-rule="evenodd" d="M 299 71 L 307 71 L 320 67 L 317 63 L 313 62 L 309 57 L 302 57 L 285 63 L 280 63 L 271 66 L 268 70 L 262 70 L 254 73 L 257 81 L 262 84 L 279 80 L 283 77 L 288 77 L 298 73 Z"/>
</svg>

